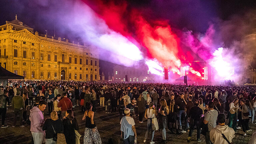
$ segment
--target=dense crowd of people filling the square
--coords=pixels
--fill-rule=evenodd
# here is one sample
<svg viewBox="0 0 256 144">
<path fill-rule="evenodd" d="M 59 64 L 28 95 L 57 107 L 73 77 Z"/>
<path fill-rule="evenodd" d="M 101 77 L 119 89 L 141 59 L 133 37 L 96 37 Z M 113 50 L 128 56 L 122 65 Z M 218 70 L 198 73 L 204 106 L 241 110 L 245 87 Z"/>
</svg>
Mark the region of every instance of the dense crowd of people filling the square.
<svg viewBox="0 0 256 144">
<path fill-rule="evenodd" d="M 5 115 L 7 107 L 12 106 L 12 127 L 30 125 L 35 144 L 54 144 L 56 141 L 76 144 L 81 135 L 72 109 L 77 106 L 84 113 L 84 144 L 101 144 L 94 121 L 96 106 L 99 104 L 105 107 L 107 114 L 119 112 L 124 144 L 137 142 L 137 116 L 139 123 L 147 122 L 144 143 L 149 140 L 150 144 L 154 144 L 154 133 L 157 130 L 162 133 L 162 143 L 166 143 L 166 132 L 177 135 L 188 132 L 187 142 L 190 142 L 196 130 L 198 142 L 201 141 L 200 134 L 203 134 L 206 144 L 229 144 L 239 129 L 242 128 L 242 135 L 246 136 L 251 131 L 249 123 L 256 123 L 255 97 L 256 87 L 10 81 L 8 85 L 1 86 L 0 90 L 1 127 L 8 127 Z M 45 112 L 46 107 L 48 112 Z M 50 118 L 45 119 L 46 115 Z M 250 144 L 255 141 L 256 134 L 252 135 Z M 109 143 L 112 143 L 111 139 Z"/>
</svg>

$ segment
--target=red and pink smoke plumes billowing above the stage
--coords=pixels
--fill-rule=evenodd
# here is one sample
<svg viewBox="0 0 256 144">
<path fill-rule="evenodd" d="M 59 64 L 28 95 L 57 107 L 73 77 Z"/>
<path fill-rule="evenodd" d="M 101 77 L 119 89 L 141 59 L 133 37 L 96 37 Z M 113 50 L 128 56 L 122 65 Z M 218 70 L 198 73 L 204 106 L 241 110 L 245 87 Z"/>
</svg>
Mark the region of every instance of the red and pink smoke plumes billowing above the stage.
<svg viewBox="0 0 256 144">
<path fill-rule="evenodd" d="M 211 56 L 207 49 L 210 37 L 204 38 L 201 42 L 192 35 L 191 31 L 188 31 L 185 34 L 180 34 L 181 40 L 172 31 L 168 21 L 147 20 L 141 10 L 132 8 L 124 1 L 114 3 L 112 1 L 84 0 L 84 2 L 105 20 L 110 29 L 121 33 L 139 47 L 145 58 L 155 58 L 165 67 L 178 69 L 180 61 L 194 60 L 191 51 L 184 49 L 184 46 L 191 48 L 204 60 Z M 180 33 L 183 32 L 180 31 Z M 212 33 L 214 32 L 208 31 L 208 36 L 211 36 Z M 199 67 L 201 66 L 192 68 L 193 73 L 197 73 L 196 69 Z"/>
</svg>

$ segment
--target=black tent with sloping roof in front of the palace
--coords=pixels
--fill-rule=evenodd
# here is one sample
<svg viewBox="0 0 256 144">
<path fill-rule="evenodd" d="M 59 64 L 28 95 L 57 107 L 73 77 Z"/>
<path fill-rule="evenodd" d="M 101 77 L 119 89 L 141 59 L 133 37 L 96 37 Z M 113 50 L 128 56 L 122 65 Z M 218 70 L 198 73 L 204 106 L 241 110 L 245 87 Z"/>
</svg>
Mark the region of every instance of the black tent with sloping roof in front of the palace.
<svg viewBox="0 0 256 144">
<path fill-rule="evenodd" d="M 3 85 L 8 84 L 8 79 L 24 79 L 24 76 L 17 75 L 15 73 L 12 73 L 2 66 L 0 66 L 0 83 L 3 83 Z"/>
</svg>

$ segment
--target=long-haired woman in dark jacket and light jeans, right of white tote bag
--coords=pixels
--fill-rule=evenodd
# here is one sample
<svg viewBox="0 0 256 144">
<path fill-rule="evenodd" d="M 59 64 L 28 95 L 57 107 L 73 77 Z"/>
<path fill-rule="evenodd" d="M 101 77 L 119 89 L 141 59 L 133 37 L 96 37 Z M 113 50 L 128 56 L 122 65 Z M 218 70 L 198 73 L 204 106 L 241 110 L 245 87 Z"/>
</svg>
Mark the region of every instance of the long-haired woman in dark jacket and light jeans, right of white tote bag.
<svg viewBox="0 0 256 144">
<path fill-rule="evenodd" d="M 162 138 L 163 138 L 163 143 L 166 143 L 166 125 L 167 125 L 167 115 L 169 114 L 169 108 L 167 106 L 167 103 L 165 99 L 160 99 L 160 118 L 159 118 L 159 129 L 162 130 Z"/>
</svg>

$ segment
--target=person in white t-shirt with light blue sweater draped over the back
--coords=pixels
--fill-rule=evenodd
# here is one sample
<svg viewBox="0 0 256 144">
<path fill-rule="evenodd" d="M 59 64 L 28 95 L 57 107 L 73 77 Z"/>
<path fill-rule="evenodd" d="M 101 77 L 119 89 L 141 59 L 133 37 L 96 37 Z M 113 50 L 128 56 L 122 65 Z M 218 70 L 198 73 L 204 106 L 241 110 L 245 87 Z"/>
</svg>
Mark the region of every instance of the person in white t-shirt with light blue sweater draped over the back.
<svg viewBox="0 0 256 144">
<path fill-rule="evenodd" d="M 121 119 L 121 137 L 123 138 L 124 144 L 134 144 L 134 139 L 137 137 L 135 122 L 130 117 L 130 109 L 124 110 L 125 116 Z"/>
</svg>

